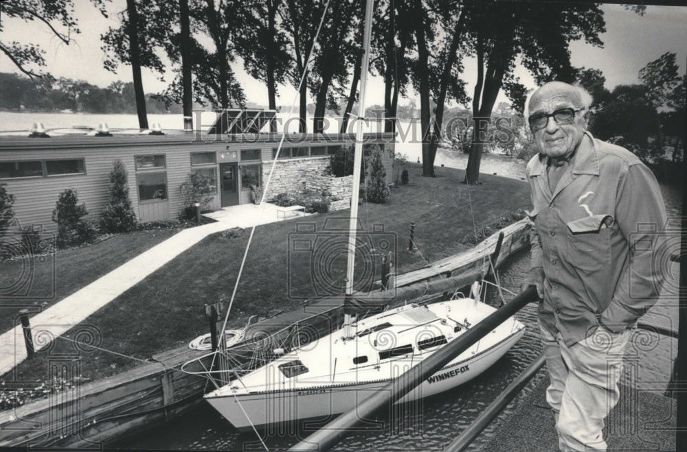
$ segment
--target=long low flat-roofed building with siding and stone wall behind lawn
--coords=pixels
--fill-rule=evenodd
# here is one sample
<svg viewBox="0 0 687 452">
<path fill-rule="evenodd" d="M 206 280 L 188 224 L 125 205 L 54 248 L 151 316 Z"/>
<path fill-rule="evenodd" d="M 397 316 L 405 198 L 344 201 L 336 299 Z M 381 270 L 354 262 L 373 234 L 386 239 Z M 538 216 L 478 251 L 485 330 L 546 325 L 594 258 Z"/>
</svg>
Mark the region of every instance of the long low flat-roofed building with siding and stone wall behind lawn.
<svg viewBox="0 0 687 452">
<path fill-rule="evenodd" d="M 54 136 L 48 130 L 43 138 L 28 133 L 0 136 L 0 183 L 14 195 L 14 217 L 21 225 L 43 230 L 56 230 L 51 215 L 65 189 L 76 189 L 89 218 L 97 219 L 109 200 L 108 176 L 115 160 L 122 160 L 128 171 L 129 196 L 139 222 L 183 214 L 186 206 L 179 187 L 192 173 L 210 180 L 212 201 L 207 209 L 247 204 L 250 185 L 264 186 L 282 141 L 282 134 L 269 132 L 273 117 L 262 110 L 234 110 L 218 115 L 207 132 L 112 130 Z M 365 146 L 376 145 L 382 152 L 388 184 L 393 177 L 394 139 L 392 133 L 365 134 Z M 353 143 L 354 134 L 287 134 L 274 163 L 267 200 L 306 187 L 324 189 L 330 156 Z"/>
</svg>

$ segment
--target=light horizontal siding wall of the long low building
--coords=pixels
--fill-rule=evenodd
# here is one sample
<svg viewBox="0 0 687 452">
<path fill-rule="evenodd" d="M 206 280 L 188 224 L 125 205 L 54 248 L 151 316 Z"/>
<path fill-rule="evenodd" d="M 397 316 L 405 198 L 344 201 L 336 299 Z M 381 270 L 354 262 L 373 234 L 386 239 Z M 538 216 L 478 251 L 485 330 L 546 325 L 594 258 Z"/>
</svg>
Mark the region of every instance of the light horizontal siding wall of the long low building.
<svg viewBox="0 0 687 452">
<path fill-rule="evenodd" d="M 381 139 L 381 138 L 380 138 Z M 389 136 L 385 136 L 389 141 Z M 115 160 L 120 159 L 128 171 L 129 196 L 134 210 L 140 217 L 146 219 L 148 215 L 158 218 L 166 216 L 175 218 L 183 212 L 183 198 L 179 192 L 179 185 L 188 177 L 192 169 L 190 165 L 191 152 L 216 152 L 217 162 L 223 161 L 221 154 L 241 149 L 260 149 L 262 156 L 262 185 L 267 182 L 267 176 L 271 169 L 272 150 L 277 147 L 278 141 L 271 137 L 270 141 L 240 143 L 236 141 L 216 141 L 214 143 L 193 142 L 193 137 L 183 136 L 113 136 L 111 138 L 80 136 L 80 137 L 54 137 L 49 139 L 29 139 L 13 137 L 0 138 L 0 161 L 14 160 L 45 160 L 56 158 L 83 158 L 85 160 L 86 174 L 73 176 L 50 176 L 37 178 L 5 178 L 0 183 L 7 185 L 6 189 L 16 199 L 14 202 L 15 218 L 19 219 L 22 226 L 31 224 L 42 225 L 45 230 L 56 230 L 56 224 L 52 222 L 51 215 L 59 194 L 65 189 L 76 189 L 79 202 L 85 203 L 89 210 L 89 217 L 97 219 L 106 206 L 109 198 L 108 174 Z M 327 144 L 352 143 L 351 135 L 339 135 L 337 140 Z M 322 142 L 315 145 L 321 145 Z M 308 139 L 300 144 L 284 143 L 284 147 L 307 146 Z M 387 181 L 392 182 L 392 144 L 385 144 L 385 166 L 387 163 Z M 139 206 L 139 195 L 136 182 L 135 156 L 146 154 L 164 154 L 166 156 L 167 195 L 165 204 L 153 206 L 148 204 Z M 298 167 L 298 175 L 282 182 L 273 180 L 271 193 L 288 191 L 289 187 L 302 187 L 308 174 L 322 174 L 329 163 L 328 156 L 292 158 L 279 160 L 277 168 Z M 219 193 L 220 180 L 216 169 L 218 193 L 214 193 L 214 199 L 210 209 L 219 209 L 221 206 L 221 194 Z M 284 185 L 286 184 L 286 185 Z M 284 185 L 284 187 L 280 187 Z M 240 202 L 250 202 L 250 192 L 240 191 Z M 148 211 L 146 211 L 148 209 Z M 148 220 L 153 219 L 148 217 Z"/>
</svg>

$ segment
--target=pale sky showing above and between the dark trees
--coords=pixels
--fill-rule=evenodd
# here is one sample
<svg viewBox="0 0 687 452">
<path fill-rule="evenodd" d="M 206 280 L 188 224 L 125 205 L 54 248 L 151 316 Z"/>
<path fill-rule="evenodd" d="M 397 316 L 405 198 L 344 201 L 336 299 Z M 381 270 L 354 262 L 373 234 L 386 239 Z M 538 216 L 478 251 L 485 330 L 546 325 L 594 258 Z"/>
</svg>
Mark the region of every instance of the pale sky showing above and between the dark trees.
<svg viewBox="0 0 687 452">
<path fill-rule="evenodd" d="M 88 0 L 75 0 L 76 16 L 81 29 L 80 34 L 72 34 L 74 42 L 69 46 L 52 35 L 49 29 L 37 21 L 24 23 L 3 19 L 3 41 L 17 40 L 20 43 L 32 42 L 45 50 L 47 67 L 45 70 L 56 78 L 66 77 L 85 80 L 97 86 L 108 86 L 115 80 L 131 80 L 131 67 L 120 64 L 117 73 L 103 68 L 103 52 L 100 49 L 100 35 L 108 27 L 118 27 L 117 12 L 126 8 L 126 0 L 113 0 L 108 5 L 110 12 L 106 19 Z M 618 84 L 638 83 L 638 72 L 648 62 L 656 60 L 663 53 L 677 53 L 680 73 L 687 67 L 687 8 L 650 5 L 644 16 L 624 10 L 620 5 L 602 5 L 606 21 L 606 32 L 600 36 L 602 48 L 584 42 L 570 43 L 571 62 L 574 67 L 601 69 L 606 78 L 606 88 L 612 90 Z M 464 61 L 464 80 L 469 94 L 473 92 L 476 64 L 473 58 Z M 234 71 L 240 80 L 247 100 L 267 105 L 267 88 L 262 82 L 249 77 L 243 71 L 243 63 L 238 60 Z M 19 73 L 12 62 L 0 54 L 0 72 Z M 516 75 L 529 88 L 534 88 L 532 77 L 525 69 L 518 67 Z M 143 83 L 146 93 L 155 93 L 165 88 L 166 82 L 144 68 Z M 383 104 L 383 80 L 379 77 L 368 79 L 368 95 L 365 104 Z M 278 105 L 295 104 L 296 92 L 291 86 L 280 86 Z M 409 97 L 416 94 L 409 91 Z M 503 93 L 499 102 L 506 102 Z M 311 99 L 309 102 L 313 102 Z M 401 99 L 400 104 L 409 103 Z M 419 99 L 416 104 L 420 105 Z"/>
</svg>

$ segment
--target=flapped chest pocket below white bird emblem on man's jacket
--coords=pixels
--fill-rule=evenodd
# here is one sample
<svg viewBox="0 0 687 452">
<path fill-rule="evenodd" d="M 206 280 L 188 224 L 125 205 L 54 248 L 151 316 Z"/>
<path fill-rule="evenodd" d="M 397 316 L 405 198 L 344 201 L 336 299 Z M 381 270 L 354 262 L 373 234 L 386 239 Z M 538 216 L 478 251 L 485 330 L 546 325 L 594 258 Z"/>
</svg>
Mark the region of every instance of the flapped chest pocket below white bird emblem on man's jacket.
<svg viewBox="0 0 687 452">
<path fill-rule="evenodd" d="M 592 215 L 567 223 L 567 261 L 583 272 L 592 273 L 611 265 L 613 216 Z"/>
</svg>

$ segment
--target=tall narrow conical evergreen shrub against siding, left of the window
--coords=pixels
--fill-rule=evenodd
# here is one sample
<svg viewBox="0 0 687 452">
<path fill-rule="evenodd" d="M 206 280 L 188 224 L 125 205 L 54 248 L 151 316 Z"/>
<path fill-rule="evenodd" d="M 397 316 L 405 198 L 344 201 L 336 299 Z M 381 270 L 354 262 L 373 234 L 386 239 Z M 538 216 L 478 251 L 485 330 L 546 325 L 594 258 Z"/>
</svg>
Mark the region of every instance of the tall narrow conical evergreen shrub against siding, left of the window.
<svg viewBox="0 0 687 452">
<path fill-rule="evenodd" d="M 107 233 L 127 233 L 136 228 L 136 214 L 128 195 L 126 168 L 116 160 L 110 178 L 110 202 L 100 219 L 100 228 Z"/>
</svg>

